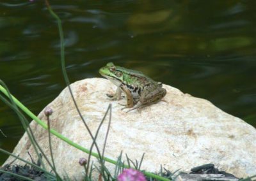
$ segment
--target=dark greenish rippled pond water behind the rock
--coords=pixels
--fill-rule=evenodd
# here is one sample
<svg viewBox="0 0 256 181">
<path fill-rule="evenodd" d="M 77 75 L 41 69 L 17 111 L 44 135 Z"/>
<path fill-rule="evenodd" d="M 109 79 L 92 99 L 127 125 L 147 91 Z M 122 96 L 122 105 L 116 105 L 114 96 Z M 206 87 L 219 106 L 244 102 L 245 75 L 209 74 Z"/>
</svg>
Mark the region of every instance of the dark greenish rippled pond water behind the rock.
<svg viewBox="0 0 256 181">
<path fill-rule="evenodd" d="M 107 62 L 205 98 L 256 127 L 256 1 L 51 1 L 70 81 Z M 65 87 L 56 21 L 44 1 L 0 1 L 0 78 L 39 113 Z M 23 134 L 0 102 L 0 147 Z M 232 127 L 230 127 L 232 129 Z M 0 154 L 0 164 L 6 156 Z"/>
</svg>

